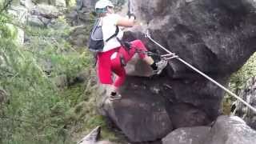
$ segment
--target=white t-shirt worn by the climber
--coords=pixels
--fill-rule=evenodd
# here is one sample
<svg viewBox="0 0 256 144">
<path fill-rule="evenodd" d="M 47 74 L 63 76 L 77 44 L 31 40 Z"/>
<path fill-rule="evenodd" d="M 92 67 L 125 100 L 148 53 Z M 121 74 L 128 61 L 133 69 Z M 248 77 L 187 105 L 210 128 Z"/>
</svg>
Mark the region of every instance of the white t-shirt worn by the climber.
<svg viewBox="0 0 256 144">
<path fill-rule="evenodd" d="M 116 25 L 119 18 L 121 18 L 121 16 L 118 14 L 106 14 L 106 16 L 102 18 L 102 33 L 103 40 L 105 42 L 102 50 L 103 52 L 121 46 L 120 42 L 118 42 L 116 37 L 111 38 L 108 42 L 106 42 L 106 39 L 110 38 L 115 33 Z M 122 39 L 122 36 L 123 31 L 119 28 L 117 37 L 119 39 Z"/>
</svg>

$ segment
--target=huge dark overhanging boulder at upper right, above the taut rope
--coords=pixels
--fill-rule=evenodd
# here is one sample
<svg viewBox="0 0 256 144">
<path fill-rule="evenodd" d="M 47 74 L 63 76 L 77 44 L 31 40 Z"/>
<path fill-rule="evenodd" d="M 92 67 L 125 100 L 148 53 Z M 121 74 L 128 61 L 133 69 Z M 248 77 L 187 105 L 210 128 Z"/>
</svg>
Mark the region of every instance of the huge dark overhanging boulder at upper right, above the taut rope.
<svg viewBox="0 0 256 144">
<path fill-rule="evenodd" d="M 136 1 L 152 37 L 206 73 L 238 70 L 256 50 L 255 2 L 248 0 Z M 248 49 L 247 49 L 248 48 Z M 187 68 L 170 62 L 178 78 Z M 182 76 L 179 76 L 181 75 Z"/>
</svg>

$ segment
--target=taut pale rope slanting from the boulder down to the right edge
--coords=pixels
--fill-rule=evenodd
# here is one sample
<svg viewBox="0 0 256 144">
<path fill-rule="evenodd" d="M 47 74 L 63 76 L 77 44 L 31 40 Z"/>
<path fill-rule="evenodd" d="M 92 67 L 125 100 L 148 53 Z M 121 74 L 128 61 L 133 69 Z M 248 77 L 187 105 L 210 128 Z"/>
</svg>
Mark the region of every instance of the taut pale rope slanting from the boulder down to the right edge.
<svg viewBox="0 0 256 144">
<path fill-rule="evenodd" d="M 231 92 L 230 90 L 226 89 L 225 86 L 222 86 L 220 83 L 216 82 L 213 78 L 210 78 L 208 75 L 202 73 L 202 71 L 198 70 L 197 68 L 195 68 L 194 66 L 190 65 L 188 62 L 184 61 L 182 58 L 179 58 L 178 55 L 170 52 L 170 50 L 167 50 L 164 46 L 160 45 L 158 42 L 154 41 L 153 38 L 151 38 L 150 36 L 150 32 L 149 30 L 146 30 L 146 34 L 145 34 L 146 38 L 149 38 L 151 42 L 154 42 L 155 45 L 159 46 L 162 48 L 162 50 L 165 50 L 168 54 L 164 54 L 161 55 L 162 58 L 165 58 L 166 60 L 170 60 L 172 58 L 176 58 L 178 61 L 182 62 L 183 64 L 185 64 L 186 66 L 189 66 L 192 70 L 196 71 L 198 74 L 201 74 L 203 77 L 207 78 L 208 80 L 210 80 L 210 82 L 214 82 L 215 85 L 219 86 L 222 90 L 225 90 L 226 93 L 230 94 L 231 96 L 233 96 L 234 98 L 237 98 L 240 102 L 242 102 L 243 104 L 245 104 L 246 106 L 248 106 L 250 108 L 250 110 L 253 110 L 254 113 L 256 113 L 256 109 L 251 106 L 249 103 L 247 103 L 246 101 L 244 101 L 242 98 L 238 97 L 238 95 L 234 94 L 233 92 Z"/>
</svg>

